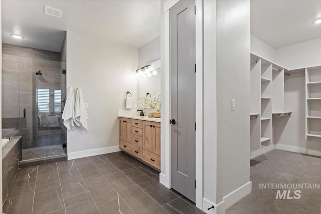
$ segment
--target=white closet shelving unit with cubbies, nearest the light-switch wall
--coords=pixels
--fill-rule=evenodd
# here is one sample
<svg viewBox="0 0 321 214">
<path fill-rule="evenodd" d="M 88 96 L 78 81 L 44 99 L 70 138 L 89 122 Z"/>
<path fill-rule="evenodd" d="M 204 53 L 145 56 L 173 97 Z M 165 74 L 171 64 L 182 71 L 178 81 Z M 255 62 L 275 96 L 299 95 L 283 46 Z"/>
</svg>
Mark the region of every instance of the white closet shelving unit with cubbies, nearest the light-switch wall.
<svg viewBox="0 0 321 214">
<path fill-rule="evenodd" d="M 273 149 L 273 118 L 292 113 L 284 111 L 284 71 L 276 63 L 251 53 L 251 158 Z"/>
</svg>

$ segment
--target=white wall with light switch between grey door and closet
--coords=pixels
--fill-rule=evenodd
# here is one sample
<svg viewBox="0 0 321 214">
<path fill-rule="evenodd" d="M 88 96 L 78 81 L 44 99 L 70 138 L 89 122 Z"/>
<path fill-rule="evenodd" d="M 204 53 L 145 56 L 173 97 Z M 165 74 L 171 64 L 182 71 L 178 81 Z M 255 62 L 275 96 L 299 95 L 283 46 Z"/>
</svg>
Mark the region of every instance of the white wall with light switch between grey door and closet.
<svg viewBox="0 0 321 214">
<path fill-rule="evenodd" d="M 218 186 L 224 186 L 228 207 L 251 191 L 250 1 L 217 1 L 216 11 L 217 140 L 223 145 L 218 151 L 223 169 L 218 172 L 223 173 Z M 231 110 L 231 99 L 235 99 L 235 110 Z"/>
</svg>

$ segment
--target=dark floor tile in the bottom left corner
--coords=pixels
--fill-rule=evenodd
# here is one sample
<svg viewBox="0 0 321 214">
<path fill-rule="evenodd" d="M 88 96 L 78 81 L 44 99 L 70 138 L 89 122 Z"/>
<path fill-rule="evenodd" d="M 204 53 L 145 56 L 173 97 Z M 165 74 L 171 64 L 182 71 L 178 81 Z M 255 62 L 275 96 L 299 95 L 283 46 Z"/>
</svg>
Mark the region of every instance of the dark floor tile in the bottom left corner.
<svg viewBox="0 0 321 214">
<path fill-rule="evenodd" d="M 6 214 L 29 214 L 32 212 L 33 199 L 34 194 L 22 195 L 7 199 L 3 207 L 3 212 Z"/>
</svg>

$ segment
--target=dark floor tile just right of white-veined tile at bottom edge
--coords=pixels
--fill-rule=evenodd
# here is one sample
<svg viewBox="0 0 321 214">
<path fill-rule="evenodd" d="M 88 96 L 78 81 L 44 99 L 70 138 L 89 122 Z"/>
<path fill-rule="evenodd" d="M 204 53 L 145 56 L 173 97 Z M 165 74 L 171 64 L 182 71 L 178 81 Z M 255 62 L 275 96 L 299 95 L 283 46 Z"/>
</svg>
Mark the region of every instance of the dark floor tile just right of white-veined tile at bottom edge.
<svg viewBox="0 0 321 214">
<path fill-rule="evenodd" d="M 134 213 L 144 213 L 158 206 L 155 201 L 137 186 L 119 190 L 118 193 Z"/>
</svg>

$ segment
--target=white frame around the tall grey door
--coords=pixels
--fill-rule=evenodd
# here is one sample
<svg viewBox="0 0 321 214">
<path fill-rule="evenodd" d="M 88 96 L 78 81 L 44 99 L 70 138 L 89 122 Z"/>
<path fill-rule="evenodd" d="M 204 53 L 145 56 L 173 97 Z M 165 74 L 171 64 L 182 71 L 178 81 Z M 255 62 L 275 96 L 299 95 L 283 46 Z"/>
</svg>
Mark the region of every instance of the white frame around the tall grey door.
<svg viewBox="0 0 321 214">
<path fill-rule="evenodd" d="M 170 79 L 170 10 L 181 0 L 168 0 L 164 4 L 165 69 L 162 78 L 161 173 L 159 182 L 171 188 L 171 79 Z M 203 1 L 196 0 L 196 207 L 203 204 Z M 164 26 L 163 26 L 164 27 Z"/>
</svg>

